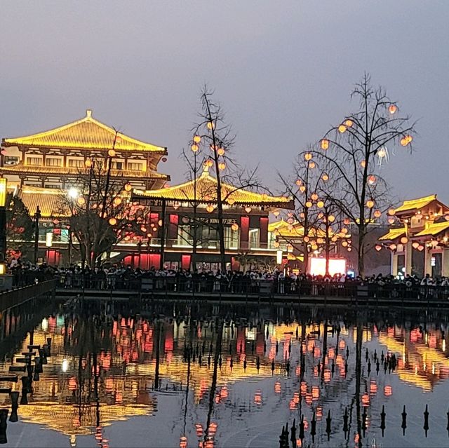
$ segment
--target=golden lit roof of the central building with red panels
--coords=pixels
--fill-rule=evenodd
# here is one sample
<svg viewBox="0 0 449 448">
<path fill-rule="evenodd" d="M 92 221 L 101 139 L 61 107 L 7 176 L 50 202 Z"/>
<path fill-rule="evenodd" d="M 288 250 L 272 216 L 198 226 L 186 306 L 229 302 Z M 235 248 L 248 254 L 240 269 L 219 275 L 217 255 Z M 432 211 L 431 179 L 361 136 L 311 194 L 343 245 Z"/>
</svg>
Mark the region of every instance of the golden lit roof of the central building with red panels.
<svg viewBox="0 0 449 448">
<path fill-rule="evenodd" d="M 199 203 L 216 203 L 217 201 L 217 179 L 211 176 L 205 168 L 201 176 L 196 179 L 196 196 L 193 180 L 158 190 L 134 190 L 135 198 L 167 199 L 169 201 Z M 222 200 L 229 204 L 239 205 L 275 205 L 280 208 L 293 208 L 293 200 L 285 196 L 268 196 L 267 194 L 255 193 L 241 189 L 238 186 L 222 182 Z"/>
</svg>

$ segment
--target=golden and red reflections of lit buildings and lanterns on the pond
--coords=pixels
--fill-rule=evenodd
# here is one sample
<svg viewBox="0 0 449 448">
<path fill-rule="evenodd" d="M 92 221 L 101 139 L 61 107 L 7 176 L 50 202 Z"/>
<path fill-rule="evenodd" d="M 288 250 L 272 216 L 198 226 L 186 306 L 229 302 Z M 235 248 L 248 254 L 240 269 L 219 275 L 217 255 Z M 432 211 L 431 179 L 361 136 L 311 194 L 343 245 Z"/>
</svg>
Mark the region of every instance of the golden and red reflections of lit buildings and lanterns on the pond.
<svg viewBox="0 0 449 448">
<path fill-rule="evenodd" d="M 335 430 L 345 409 L 354 412 L 349 431 L 360 446 L 373 413 L 395 393 L 390 375 L 423 392 L 449 376 L 447 323 L 361 323 L 338 313 L 288 320 L 173 315 L 43 318 L 1 366 L 7 371 L 29 345 L 52 338 L 51 358 L 20 419 L 67 435 L 72 446 L 76 437 L 93 435 L 107 448 L 105 427 L 154 415 L 163 393 L 182 402 L 180 447 L 215 447 L 222 419 L 274 405 L 297 421 L 302 416 L 306 435 L 311 419 L 325 420 L 329 409 Z"/>
</svg>

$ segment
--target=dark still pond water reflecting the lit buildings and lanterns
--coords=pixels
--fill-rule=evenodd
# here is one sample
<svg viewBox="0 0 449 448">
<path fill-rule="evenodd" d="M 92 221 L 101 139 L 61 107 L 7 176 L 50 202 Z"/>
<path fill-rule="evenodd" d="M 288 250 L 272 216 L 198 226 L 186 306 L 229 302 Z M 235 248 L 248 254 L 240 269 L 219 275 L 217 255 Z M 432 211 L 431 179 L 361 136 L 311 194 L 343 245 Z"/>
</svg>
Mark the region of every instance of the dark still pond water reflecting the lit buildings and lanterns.
<svg viewBox="0 0 449 448">
<path fill-rule="evenodd" d="M 48 337 L 51 357 L 19 421 L 8 422 L 9 446 L 279 447 L 282 427 L 290 431 L 294 419 L 290 446 L 449 445 L 448 321 L 437 311 L 197 303 L 141 315 L 100 305 L 60 309 L 16 337 L 0 371 Z M 396 367 L 380 360 L 377 372 L 375 353 L 379 360 L 394 354 Z M 20 390 L 21 382 L 12 386 Z M 0 402 L 11 407 L 7 394 Z"/>
</svg>

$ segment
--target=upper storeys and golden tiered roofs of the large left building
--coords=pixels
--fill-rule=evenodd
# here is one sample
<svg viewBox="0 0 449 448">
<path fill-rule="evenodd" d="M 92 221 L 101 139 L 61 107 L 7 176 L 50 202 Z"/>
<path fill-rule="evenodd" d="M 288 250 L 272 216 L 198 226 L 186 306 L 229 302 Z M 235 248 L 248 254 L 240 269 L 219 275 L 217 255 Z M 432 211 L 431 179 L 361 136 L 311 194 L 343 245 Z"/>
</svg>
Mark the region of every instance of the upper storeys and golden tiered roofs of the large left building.
<svg viewBox="0 0 449 448">
<path fill-rule="evenodd" d="M 25 137 L 1 141 L 0 175 L 8 186 L 34 186 L 67 191 L 76 185 L 87 161 L 108 163 L 114 150 L 111 176 L 124 177 L 135 188 L 161 187 L 167 175 L 156 172 L 165 147 L 136 140 L 95 120 L 86 111 L 81 120 Z M 33 210 L 31 210 L 33 211 Z"/>
</svg>

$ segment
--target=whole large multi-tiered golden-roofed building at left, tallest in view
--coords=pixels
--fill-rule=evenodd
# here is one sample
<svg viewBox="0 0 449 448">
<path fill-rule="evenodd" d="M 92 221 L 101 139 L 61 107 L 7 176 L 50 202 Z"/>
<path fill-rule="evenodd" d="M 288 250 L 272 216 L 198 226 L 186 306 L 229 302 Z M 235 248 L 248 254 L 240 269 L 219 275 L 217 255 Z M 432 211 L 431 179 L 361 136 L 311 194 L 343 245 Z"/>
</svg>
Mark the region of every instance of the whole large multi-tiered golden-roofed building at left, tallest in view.
<svg viewBox="0 0 449 448">
<path fill-rule="evenodd" d="M 39 258 L 60 264 L 68 249 L 67 229 L 55 225 L 62 217 L 61 196 L 76 187 L 79 178 L 95 163 L 114 179 L 140 189 L 159 189 L 168 175 L 157 172 L 166 161 L 166 147 L 117 132 L 86 111 L 80 120 L 59 128 L 1 141 L 0 176 L 8 179 L 33 216 L 39 206 Z M 51 236 L 51 249 L 45 248 Z M 48 244 L 47 244 L 48 245 Z M 67 262 L 65 260 L 64 262 Z"/>
</svg>

